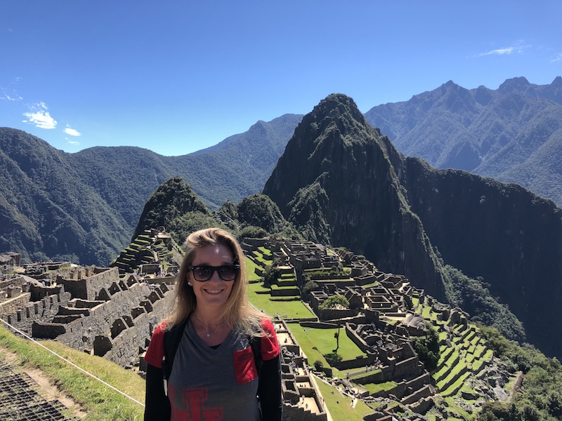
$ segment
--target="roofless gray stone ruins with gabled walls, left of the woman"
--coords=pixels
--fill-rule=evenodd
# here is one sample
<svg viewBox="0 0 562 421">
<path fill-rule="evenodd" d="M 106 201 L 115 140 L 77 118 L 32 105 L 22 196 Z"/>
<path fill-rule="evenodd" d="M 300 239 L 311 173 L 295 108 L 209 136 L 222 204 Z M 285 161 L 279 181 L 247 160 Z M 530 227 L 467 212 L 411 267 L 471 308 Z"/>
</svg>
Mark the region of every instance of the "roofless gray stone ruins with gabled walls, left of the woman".
<svg viewBox="0 0 562 421">
<path fill-rule="evenodd" d="M 150 283 L 136 274 L 119 276 L 115 267 L 62 272 L 0 281 L 0 317 L 32 338 L 138 368 L 153 328 L 169 312 L 174 278 Z"/>
</svg>

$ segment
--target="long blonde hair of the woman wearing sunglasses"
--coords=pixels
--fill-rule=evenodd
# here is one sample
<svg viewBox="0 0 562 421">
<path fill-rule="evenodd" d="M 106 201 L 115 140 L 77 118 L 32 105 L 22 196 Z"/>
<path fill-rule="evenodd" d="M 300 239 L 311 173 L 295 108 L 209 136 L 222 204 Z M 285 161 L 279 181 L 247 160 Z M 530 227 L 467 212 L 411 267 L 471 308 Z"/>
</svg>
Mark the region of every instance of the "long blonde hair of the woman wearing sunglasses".
<svg viewBox="0 0 562 421">
<path fill-rule="evenodd" d="M 189 268 L 195 260 L 197 250 L 207 246 L 225 246 L 233 254 L 233 263 L 240 265 L 233 283 L 233 289 L 226 301 L 221 314 L 218 316 L 231 328 L 237 328 L 241 333 L 250 336 L 263 336 L 261 327 L 262 319 L 269 319 L 266 314 L 260 312 L 251 305 L 248 299 L 248 276 L 246 273 L 246 262 L 240 243 L 232 234 L 220 228 L 200 229 L 193 232 L 185 240 L 183 248 L 185 254 L 181 262 L 180 271 L 176 278 L 176 300 L 174 310 L 168 317 L 167 328 L 176 323 L 180 324 L 188 319 L 197 307 L 197 298 L 193 288 L 188 285 Z"/>
</svg>

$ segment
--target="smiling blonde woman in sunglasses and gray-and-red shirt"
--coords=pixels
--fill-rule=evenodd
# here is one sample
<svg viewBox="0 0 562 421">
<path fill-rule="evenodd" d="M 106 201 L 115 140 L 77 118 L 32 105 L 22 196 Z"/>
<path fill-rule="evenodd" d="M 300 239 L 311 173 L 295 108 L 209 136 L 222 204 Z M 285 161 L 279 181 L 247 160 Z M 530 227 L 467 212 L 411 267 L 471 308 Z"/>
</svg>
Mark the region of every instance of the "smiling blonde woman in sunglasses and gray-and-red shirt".
<svg viewBox="0 0 562 421">
<path fill-rule="evenodd" d="M 240 244 L 209 228 L 190 234 L 184 248 L 174 312 L 145 355 L 145 420 L 281 420 L 280 347 L 271 321 L 248 301 Z"/>
</svg>

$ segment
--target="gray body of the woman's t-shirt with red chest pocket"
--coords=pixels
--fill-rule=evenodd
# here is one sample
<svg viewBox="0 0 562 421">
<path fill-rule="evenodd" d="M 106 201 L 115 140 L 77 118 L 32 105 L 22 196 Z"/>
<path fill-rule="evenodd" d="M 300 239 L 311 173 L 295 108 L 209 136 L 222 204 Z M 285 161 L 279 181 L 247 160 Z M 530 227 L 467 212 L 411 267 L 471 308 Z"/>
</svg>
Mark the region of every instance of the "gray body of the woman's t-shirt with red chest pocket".
<svg viewBox="0 0 562 421">
<path fill-rule="evenodd" d="M 257 392 L 248 338 L 233 331 L 213 349 L 189 321 L 169 379 L 171 421 L 259 421 Z"/>
</svg>

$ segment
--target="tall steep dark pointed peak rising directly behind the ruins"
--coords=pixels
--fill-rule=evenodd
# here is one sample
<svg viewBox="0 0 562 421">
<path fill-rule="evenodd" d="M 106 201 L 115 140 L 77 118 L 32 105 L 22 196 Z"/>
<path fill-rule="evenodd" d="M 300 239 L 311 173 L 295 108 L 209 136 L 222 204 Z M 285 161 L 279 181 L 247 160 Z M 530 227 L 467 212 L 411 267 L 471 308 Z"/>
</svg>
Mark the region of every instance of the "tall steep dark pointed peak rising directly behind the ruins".
<svg viewBox="0 0 562 421">
<path fill-rule="evenodd" d="M 296 128 L 263 193 L 308 236 L 357 250 L 388 272 L 417 273 L 421 288 L 445 298 L 436 255 L 391 157 L 400 169 L 400 154 L 355 102 L 330 95 Z"/>
</svg>

